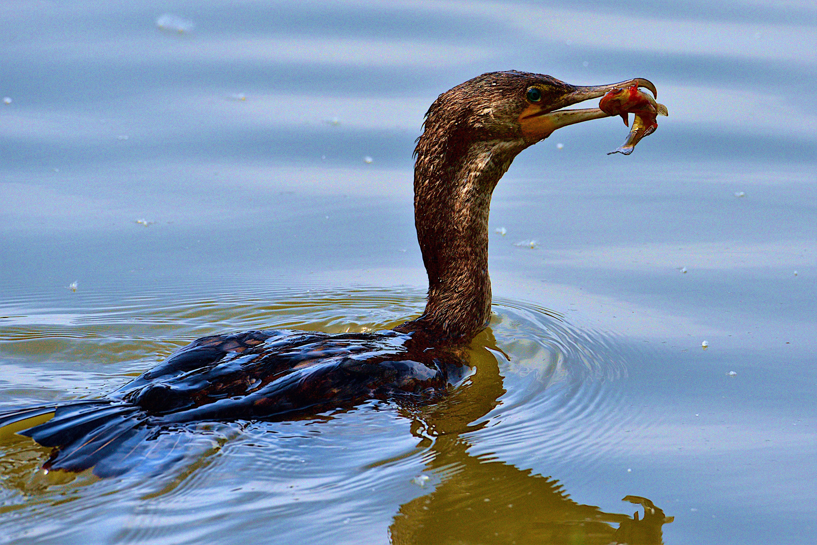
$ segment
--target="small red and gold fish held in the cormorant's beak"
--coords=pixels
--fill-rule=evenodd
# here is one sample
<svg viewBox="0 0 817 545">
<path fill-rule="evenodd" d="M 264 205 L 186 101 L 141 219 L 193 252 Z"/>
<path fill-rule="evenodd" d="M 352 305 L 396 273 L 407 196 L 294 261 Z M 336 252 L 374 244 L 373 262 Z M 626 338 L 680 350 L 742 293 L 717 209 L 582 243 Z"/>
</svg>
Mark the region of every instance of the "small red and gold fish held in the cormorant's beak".
<svg viewBox="0 0 817 545">
<path fill-rule="evenodd" d="M 645 136 L 650 136 L 659 127 L 657 117 L 667 116 L 667 106 L 659 104 L 647 93 L 641 91 L 637 85 L 613 89 L 599 101 L 599 109 L 610 116 L 620 115 L 624 124 L 629 127 L 628 114 L 632 116 L 632 128 L 627 140 L 618 149 L 610 154 L 632 154 L 636 144 Z"/>
</svg>

